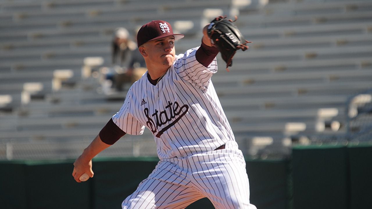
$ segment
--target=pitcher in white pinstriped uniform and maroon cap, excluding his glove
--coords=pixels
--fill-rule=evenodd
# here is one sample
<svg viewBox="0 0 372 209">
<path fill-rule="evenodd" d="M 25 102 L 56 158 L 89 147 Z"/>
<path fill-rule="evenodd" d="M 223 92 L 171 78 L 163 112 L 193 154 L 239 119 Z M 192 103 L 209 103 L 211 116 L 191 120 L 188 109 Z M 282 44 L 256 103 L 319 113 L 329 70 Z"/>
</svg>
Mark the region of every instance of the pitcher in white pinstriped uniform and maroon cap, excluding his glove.
<svg viewBox="0 0 372 209">
<path fill-rule="evenodd" d="M 206 26 L 207 27 L 207 26 Z M 211 77 L 217 72 L 214 47 L 203 29 L 201 46 L 176 55 L 174 34 L 163 20 L 138 31 L 138 50 L 148 71 L 128 91 L 124 104 L 74 163 L 77 182 L 93 177 L 92 158 L 124 134 L 147 127 L 159 163 L 123 209 L 186 208 L 207 197 L 218 209 L 256 209 L 242 152 L 222 110 Z"/>
</svg>

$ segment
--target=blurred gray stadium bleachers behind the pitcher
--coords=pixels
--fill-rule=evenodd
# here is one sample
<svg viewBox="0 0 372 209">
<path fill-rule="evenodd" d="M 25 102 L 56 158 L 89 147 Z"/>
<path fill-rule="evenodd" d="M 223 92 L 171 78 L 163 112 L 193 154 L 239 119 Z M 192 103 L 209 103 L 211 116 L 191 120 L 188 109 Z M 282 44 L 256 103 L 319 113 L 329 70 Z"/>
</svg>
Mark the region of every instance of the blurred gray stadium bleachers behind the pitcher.
<svg viewBox="0 0 372 209">
<path fill-rule="evenodd" d="M 74 158 L 99 133 L 126 94 L 103 94 L 99 82 L 115 28 L 134 34 L 167 20 L 186 34 L 176 44 L 182 53 L 200 44 L 215 14 L 238 15 L 252 41 L 230 73 L 220 58 L 212 78 L 244 154 L 286 157 L 293 144 L 370 141 L 372 1 L 244 2 L 0 1 L 0 159 Z M 103 63 L 84 67 L 86 57 Z M 149 131 L 100 154 L 154 155 Z"/>
</svg>

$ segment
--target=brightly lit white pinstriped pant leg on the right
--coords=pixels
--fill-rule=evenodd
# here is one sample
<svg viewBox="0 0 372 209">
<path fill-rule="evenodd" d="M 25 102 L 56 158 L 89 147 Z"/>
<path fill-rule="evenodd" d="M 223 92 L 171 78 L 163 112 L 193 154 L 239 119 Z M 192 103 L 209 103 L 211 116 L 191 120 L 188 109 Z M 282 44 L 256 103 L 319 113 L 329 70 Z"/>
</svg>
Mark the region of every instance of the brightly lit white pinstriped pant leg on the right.
<svg viewBox="0 0 372 209">
<path fill-rule="evenodd" d="M 246 163 L 238 149 L 221 149 L 190 158 L 198 189 L 218 209 L 257 209 L 249 200 Z"/>
</svg>

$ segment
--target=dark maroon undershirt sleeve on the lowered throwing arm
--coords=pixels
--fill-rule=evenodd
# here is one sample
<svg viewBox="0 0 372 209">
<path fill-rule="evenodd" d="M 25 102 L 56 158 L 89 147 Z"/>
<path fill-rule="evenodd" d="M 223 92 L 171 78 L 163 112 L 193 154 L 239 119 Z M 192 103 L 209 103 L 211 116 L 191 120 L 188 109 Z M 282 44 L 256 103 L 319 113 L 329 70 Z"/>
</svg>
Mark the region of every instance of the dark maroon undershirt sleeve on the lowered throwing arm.
<svg viewBox="0 0 372 209">
<path fill-rule="evenodd" d="M 99 132 L 99 137 L 101 138 L 101 141 L 109 145 L 113 145 L 124 135 L 125 132 L 112 121 L 112 118 Z"/>
</svg>

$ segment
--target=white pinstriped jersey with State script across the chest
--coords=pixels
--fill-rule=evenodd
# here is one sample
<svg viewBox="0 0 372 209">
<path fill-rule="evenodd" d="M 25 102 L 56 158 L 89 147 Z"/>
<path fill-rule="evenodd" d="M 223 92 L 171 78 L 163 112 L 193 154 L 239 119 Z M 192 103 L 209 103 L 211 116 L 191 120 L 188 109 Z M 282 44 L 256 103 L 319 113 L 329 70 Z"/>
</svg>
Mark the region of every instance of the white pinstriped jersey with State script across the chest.
<svg viewBox="0 0 372 209">
<path fill-rule="evenodd" d="M 112 119 L 124 132 L 154 134 L 160 159 L 186 157 L 235 141 L 211 77 L 216 58 L 205 67 L 196 60 L 199 47 L 176 55 L 173 65 L 154 86 L 147 73 L 128 91 Z"/>
</svg>

